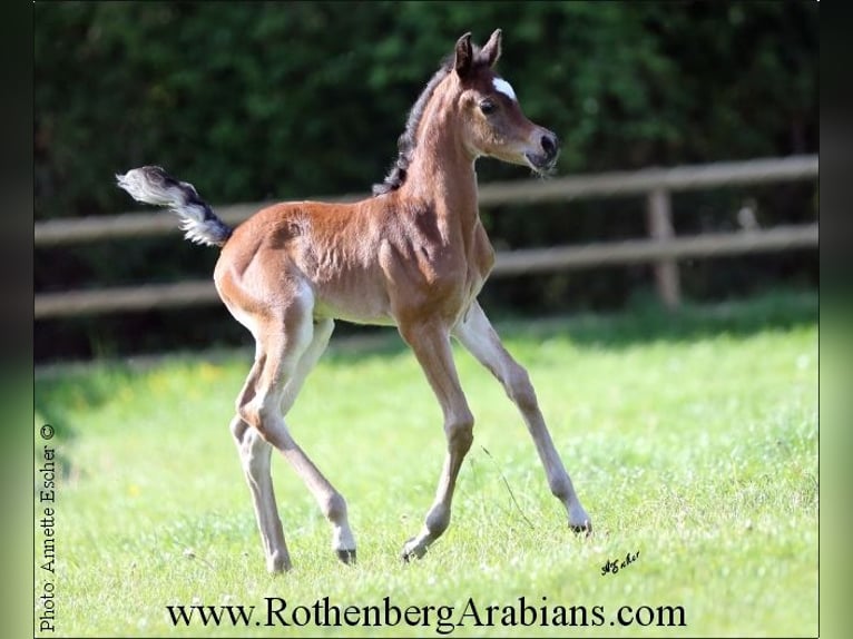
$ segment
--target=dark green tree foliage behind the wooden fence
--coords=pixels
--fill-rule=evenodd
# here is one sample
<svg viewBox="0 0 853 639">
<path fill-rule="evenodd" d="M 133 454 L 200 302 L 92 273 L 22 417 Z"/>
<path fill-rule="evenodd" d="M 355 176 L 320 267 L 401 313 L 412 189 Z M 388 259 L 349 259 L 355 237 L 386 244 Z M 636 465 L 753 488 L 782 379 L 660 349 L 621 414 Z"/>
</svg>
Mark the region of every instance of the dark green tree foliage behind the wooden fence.
<svg viewBox="0 0 853 639">
<path fill-rule="evenodd" d="M 497 27 L 500 72 L 560 136 L 561 174 L 817 146 L 814 3 L 63 2 L 37 3 L 35 18 L 37 219 L 133 208 L 112 175 L 143 164 L 214 204 L 366 193 L 455 39 Z M 479 173 L 521 177 L 489 161 Z M 577 212 L 486 222 L 508 246 L 638 224 Z M 51 250 L 36 286 L 209 274 L 215 256 L 176 244 Z"/>
</svg>

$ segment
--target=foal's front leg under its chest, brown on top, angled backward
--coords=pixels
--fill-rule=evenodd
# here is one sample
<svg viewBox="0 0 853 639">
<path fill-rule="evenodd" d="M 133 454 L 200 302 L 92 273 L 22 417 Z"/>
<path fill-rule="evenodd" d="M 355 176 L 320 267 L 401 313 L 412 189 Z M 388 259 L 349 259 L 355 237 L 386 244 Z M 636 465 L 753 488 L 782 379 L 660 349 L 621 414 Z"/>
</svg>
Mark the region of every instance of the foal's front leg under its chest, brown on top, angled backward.
<svg viewBox="0 0 853 639">
<path fill-rule="evenodd" d="M 459 383 L 449 332 L 440 326 L 401 326 L 403 340 L 412 347 L 426 380 L 441 404 L 444 415 L 444 435 L 448 453 L 439 476 L 435 500 L 432 503 L 423 528 L 403 545 L 402 557 L 406 561 L 421 558 L 426 548 L 447 530 L 450 524 L 450 509 L 453 490 L 462 460 L 473 441 L 474 419 Z"/>
</svg>

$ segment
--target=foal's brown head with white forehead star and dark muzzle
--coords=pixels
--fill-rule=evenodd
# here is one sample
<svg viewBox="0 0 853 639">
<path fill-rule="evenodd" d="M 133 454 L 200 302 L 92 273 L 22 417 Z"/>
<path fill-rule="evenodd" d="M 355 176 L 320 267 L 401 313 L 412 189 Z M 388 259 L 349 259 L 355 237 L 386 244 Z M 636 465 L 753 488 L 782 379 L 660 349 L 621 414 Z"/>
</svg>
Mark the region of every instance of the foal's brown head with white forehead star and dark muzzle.
<svg viewBox="0 0 853 639">
<path fill-rule="evenodd" d="M 500 29 L 482 49 L 471 45 L 471 33 L 457 42 L 448 81 L 458 86 L 455 106 L 465 125 L 463 142 L 474 157 L 493 157 L 528 166 L 538 174 L 548 173 L 557 163 L 559 140 L 552 131 L 527 119 L 510 83 L 494 72 L 500 52 Z"/>
</svg>

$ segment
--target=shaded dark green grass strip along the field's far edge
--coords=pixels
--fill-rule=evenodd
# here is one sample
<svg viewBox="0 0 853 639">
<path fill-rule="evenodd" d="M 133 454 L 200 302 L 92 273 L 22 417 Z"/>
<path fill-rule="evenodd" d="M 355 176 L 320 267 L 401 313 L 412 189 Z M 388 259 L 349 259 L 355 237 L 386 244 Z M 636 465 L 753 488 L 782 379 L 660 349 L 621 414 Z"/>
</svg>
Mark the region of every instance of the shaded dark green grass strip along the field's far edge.
<svg viewBox="0 0 853 639">
<path fill-rule="evenodd" d="M 579 314 L 545 318 L 504 316 L 494 318 L 501 336 L 513 341 L 543 341 L 563 337 L 578 346 L 622 348 L 646 342 L 690 342 L 715 335 L 748 336 L 766 331 L 787 331 L 812 325 L 818 318 L 816 292 L 776 292 L 717 304 L 685 304 L 667 311 L 654 299 L 636 299 L 618 314 Z M 341 334 L 342 333 L 342 334 Z M 408 347 L 393 328 L 366 328 L 357 333 L 344 328 L 333 338 L 325 361 L 347 363 L 365 356 L 393 356 Z M 36 374 L 35 407 L 39 419 L 57 429 L 58 439 L 70 439 L 76 424 L 65 415 L 69 405 L 96 407 L 124 385 L 133 384 L 140 371 L 168 362 L 194 365 L 245 356 L 246 372 L 252 347 L 176 353 L 166 356 L 130 357 L 78 364 Z M 80 425 L 82 426 L 82 425 Z"/>
</svg>

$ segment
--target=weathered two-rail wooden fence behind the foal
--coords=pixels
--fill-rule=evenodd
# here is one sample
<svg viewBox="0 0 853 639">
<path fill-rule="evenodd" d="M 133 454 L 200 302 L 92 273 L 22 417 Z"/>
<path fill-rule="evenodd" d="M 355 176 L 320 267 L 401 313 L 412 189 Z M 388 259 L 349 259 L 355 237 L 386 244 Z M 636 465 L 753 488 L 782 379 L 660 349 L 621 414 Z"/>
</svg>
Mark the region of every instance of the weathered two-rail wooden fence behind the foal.
<svg viewBox="0 0 853 639">
<path fill-rule="evenodd" d="M 507 204 L 539 204 L 573 199 L 644 196 L 648 239 L 607 242 L 502 252 L 497 255 L 493 277 L 522 273 L 591 268 L 604 265 L 653 263 L 658 295 L 668 306 L 680 301 L 679 259 L 751 253 L 816 248 L 818 225 L 775 226 L 732 233 L 676 237 L 673 230 L 670 196 L 676 191 L 762 185 L 816 179 L 817 156 L 756 159 L 704 166 L 649 168 L 634 173 L 486 184 L 480 187 L 480 207 Z M 364 196 L 324 198 L 354 200 Z M 223 206 L 217 214 L 228 224 L 238 224 L 266 204 Z M 124 214 L 112 217 L 56 219 L 35 226 L 37 248 L 84 242 L 106 242 L 127 237 L 171 234 L 175 218 L 159 212 Z M 144 311 L 218 303 L 209 279 L 175 284 L 141 284 L 92 291 L 39 293 L 35 299 L 36 320 L 72 315 Z"/>
</svg>

